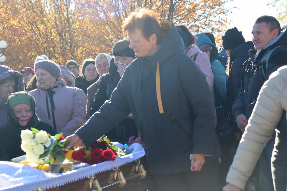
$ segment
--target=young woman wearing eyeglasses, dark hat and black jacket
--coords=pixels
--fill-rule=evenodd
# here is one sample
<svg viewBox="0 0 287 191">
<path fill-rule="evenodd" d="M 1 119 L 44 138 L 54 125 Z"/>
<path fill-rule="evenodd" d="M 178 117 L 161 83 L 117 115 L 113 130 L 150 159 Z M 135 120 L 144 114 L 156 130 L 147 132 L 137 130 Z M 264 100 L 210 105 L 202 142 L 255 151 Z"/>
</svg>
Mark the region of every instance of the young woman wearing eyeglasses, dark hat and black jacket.
<svg viewBox="0 0 287 191">
<path fill-rule="evenodd" d="M 75 79 L 76 87 L 82 89 L 87 94 L 90 85 L 99 79 L 96 69 L 95 60 L 92 58 L 85 59 L 81 67 L 81 76 Z"/>
</svg>

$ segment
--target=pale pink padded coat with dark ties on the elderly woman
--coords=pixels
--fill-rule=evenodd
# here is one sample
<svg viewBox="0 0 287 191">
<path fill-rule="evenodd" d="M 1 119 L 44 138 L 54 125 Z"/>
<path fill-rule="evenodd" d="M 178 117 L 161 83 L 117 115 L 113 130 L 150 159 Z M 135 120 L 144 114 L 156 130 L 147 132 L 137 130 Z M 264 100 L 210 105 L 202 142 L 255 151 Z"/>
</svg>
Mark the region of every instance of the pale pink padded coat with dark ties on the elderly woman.
<svg viewBox="0 0 287 191">
<path fill-rule="evenodd" d="M 53 100 L 56 108 L 54 110 L 56 129 L 58 133 L 63 133 L 63 136 L 67 137 L 84 124 L 85 113 L 77 90 L 65 86 L 65 81 L 62 79 L 58 79 L 55 86 L 52 90 L 55 91 Z M 48 92 L 41 89 L 38 83 L 37 87 L 37 89 L 30 91 L 36 100 L 36 113 L 43 122 L 49 123 L 53 127 L 51 103 Z M 51 119 L 48 117 L 46 97 L 48 99 Z"/>
</svg>

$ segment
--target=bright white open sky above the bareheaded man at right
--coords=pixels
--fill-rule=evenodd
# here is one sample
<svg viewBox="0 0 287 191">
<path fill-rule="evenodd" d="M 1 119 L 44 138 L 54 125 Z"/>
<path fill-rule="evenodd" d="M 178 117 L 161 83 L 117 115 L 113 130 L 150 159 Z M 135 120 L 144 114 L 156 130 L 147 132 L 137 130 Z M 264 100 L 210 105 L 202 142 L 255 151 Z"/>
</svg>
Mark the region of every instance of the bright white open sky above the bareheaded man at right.
<svg viewBox="0 0 287 191">
<path fill-rule="evenodd" d="M 228 13 L 228 19 L 231 20 L 229 28 L 237 27 L 242 31 L 245 41 L 251 41 L 251 30 L 257 17 L 270 15 L 277 18 L 276 7 L 267 6 L 271 2 L 272 0 L 234 0 L 227 3 L 229 7 L 237 7 L 232 9 L 232 13 Z"/>
</svg>

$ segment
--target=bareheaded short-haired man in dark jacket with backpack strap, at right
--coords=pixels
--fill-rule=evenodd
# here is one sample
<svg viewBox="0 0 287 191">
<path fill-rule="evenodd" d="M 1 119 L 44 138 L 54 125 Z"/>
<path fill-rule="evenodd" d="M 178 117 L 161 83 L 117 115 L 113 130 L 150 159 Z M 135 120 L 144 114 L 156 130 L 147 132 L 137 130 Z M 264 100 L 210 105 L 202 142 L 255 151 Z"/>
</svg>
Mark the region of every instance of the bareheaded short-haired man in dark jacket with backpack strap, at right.
<svg viewBox="0 0 287 191">
<path fill-rule="evenodd" d="M 255 49 L 249 50 L 250 58 L 243 66 L 244 80 L 232 106 L 235 121 L 242 132 L 245 131 L 263 83 L 268 80 L 270 74 L 281 66 L 287 65 L 287 32 L 286 29 L 281 30 L 277 19 L 272 16 L 258 17 L 253 25 L 252 34 Z M 276 49 L 270 55 L 267 65 L 263 61 L 265 60 L 263 56 L 274 48 Z M 271 156 L 274 143 L 275 134 L 259 158 L 265 190 L 274 190 L 271 174 Z"/>
</svg>

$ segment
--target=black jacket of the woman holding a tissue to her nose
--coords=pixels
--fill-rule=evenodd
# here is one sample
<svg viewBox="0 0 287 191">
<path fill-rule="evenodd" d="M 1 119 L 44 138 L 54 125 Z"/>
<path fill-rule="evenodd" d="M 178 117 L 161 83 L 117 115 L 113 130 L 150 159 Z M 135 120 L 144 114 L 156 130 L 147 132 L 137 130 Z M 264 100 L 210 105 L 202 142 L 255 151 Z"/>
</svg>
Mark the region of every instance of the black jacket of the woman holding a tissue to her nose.
<svg viewBox="0 0 287 191">
<path fill-rule="evenodd" d="M 101 78 L 98 92 L 95 95 L 95 99 L 92 105 L 95 113 L 100 109 L 106 100 L 109 100 L 113 90 L 117 87 L 121 77 L 117 72 L 117 66 L 115 65 L 114 58 L 110 61 L 110 67 L 108 74 L 104 74 Z M 124 119 L 113 129 L 111 129 L 106 136 L 110 141 L 116 141 L 122 144 L 128 143 L 129 137 L 135 135 L 138 137 L 137 127 L 134 119 Z"/>
</svg>

